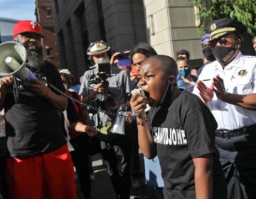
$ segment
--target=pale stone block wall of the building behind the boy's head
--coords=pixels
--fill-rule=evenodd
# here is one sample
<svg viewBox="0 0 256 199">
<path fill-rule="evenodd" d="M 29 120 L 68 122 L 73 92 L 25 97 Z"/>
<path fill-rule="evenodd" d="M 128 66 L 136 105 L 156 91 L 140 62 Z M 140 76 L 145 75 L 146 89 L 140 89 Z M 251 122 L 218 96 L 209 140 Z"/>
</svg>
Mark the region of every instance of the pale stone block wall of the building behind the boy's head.
<svg viewBox="0 0 256 199">
<path fill-rule="evenodd" d="M 201 36 L 196 26 L 193 6 L 188 0 L 144 0 L 147 39 L 157 53 L 176 58 L 186 49 L 191 59 L 201 59 Z M 150 16 L 154 21 L 151 34 Z"/>
</svg>

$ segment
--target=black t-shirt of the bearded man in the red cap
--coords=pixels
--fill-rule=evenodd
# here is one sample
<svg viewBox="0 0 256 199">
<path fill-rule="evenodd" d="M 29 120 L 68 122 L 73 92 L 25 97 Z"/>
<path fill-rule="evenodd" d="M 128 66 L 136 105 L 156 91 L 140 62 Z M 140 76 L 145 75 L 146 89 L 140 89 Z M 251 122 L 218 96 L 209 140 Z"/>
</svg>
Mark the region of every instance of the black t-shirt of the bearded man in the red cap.
<svg viewBox="0 0 256 199">
<path fill-rule="evenodd" d="M 51 85 L 65 92 L 55 65 L 46 62 L 36 72 L 46 77 Z M 18 90 L 18 93 L 18 102 L 14 102 L 12 92 L 7 94 L 4 102 L 7 147 L 11 156 L 46 154 L 66 144 L 58 109 L 47 99 L 37 97 L 26 90 Z"/>
</svg>

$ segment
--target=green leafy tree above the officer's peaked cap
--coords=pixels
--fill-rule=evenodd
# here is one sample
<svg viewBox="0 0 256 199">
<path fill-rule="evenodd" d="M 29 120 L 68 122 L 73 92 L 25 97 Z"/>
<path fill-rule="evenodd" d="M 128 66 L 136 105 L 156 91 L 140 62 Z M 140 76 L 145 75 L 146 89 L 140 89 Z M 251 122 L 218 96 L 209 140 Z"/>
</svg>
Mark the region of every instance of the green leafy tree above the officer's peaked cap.
<svg viewBox="0 0 256 199">
<path fill-rule="evenodd" d="M 256 35 L 256 1 L 255 0 L 188 0 L 198 8 L 201 21 L 200 33 L 206 33 L 207 24 L 217 18 L 234 18 L 247 26 L 250 35 Z"/>
</svg>

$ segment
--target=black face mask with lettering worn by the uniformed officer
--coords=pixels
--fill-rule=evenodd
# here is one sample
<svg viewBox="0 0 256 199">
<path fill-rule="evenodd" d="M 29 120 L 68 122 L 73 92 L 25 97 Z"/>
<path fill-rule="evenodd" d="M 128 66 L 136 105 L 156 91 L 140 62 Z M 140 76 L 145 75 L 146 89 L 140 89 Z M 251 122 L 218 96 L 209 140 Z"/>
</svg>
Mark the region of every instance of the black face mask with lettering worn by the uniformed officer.
<svg viewBox="0 0 256 199">
<path fill-rule="evenodd" d="M 235 47 L 225 47 L 218 45 L 213 48 L 213 55 L 220 64 L 228 62 L 230 58 L 235 54 L 237 49 Z"/>
</svg>

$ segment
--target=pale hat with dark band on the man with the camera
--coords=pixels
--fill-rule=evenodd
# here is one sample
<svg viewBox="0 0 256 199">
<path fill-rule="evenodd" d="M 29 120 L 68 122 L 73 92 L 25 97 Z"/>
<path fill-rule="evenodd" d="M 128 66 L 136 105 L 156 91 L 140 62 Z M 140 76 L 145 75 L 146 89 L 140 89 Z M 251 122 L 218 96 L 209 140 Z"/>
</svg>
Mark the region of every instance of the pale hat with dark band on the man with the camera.
<svg viewBox="0 0 256 199">
<path fill-rule="evenodd" d="M 110 50 L 110 46 L 105 41 L 95 41 L 87 48 L 87 55 L 100 55 Z"/>
</svg>

